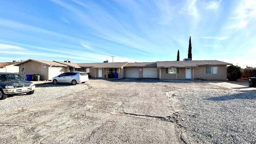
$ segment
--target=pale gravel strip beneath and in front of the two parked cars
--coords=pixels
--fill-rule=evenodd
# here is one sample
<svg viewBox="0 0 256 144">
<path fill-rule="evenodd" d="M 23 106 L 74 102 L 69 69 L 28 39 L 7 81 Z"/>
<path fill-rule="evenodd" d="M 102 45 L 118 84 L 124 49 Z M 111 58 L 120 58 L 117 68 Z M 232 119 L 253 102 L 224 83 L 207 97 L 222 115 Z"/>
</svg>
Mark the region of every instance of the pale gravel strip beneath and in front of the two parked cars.
<svg viewBox="0 0 256 144">
<path fill-rule="evenodd" d="M 15 108 L 52 100 L 86 89 L 88 89 L 86 84 L 77 84 L 75 86 L 70 84 L 42 84 L 36 86 L 35 92 L 32 95 L 18 94 L 0 101 L 0 112 L 7 112 Z"/>
</svg>

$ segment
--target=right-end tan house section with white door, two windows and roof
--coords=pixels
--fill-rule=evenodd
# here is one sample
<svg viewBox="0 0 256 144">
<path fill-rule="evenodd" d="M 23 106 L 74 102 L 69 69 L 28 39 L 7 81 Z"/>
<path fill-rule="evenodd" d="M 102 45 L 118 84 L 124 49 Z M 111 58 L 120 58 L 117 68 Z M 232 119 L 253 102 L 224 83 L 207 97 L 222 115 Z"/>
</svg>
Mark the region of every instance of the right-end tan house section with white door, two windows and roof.
<svg viewBox="0 0 256 144">
<path fill-rule="evenodd" d="M 227 62 L 218 60 L 156 62 L 160 79 L 226 80 Z"/>
</svg>

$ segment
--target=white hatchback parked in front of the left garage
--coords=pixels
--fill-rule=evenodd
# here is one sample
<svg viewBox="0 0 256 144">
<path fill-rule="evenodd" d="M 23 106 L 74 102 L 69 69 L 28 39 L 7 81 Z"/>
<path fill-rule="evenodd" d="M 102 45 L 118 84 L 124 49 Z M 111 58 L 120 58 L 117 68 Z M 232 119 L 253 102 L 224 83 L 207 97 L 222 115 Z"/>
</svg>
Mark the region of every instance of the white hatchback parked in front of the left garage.
<svg viewBox="0 0 256 144">
<path fill-rule="evenodd" d="M 71 83 L 76 85 L 77 83 L 85 83 L 88 80 L 89 78 L 86 72 L 65 72 L 52 78 L 52 83 Z"/>
</svg>

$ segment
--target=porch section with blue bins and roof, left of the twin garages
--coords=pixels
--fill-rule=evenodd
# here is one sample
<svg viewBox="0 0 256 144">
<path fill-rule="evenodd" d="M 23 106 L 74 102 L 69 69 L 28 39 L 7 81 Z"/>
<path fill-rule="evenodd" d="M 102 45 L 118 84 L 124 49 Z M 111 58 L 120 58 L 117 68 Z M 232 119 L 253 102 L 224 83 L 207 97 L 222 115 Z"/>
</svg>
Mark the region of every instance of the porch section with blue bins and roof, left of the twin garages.
<svg viewBox="0 0 256 144">
<path fill-rule="evenodd" d="M 90 76 L 93 78 L 114 78 L 114 74 L 117 74 L 117 78 L 124 78 L 124 66 L 128 62 L 102 62 L 102 63 L 78 63 L 81 69 L 90 72 Z"/>
</svg>

